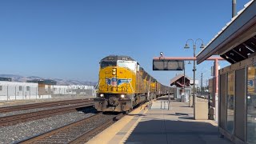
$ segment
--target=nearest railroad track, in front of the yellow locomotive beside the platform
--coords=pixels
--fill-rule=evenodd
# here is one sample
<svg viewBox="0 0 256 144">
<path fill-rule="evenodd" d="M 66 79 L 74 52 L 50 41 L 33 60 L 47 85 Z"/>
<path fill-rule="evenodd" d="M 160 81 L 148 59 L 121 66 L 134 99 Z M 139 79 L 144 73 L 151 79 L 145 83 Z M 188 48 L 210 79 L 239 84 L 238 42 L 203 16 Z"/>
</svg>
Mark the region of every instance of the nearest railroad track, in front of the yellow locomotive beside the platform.
<svg viewBox="0 0 256 144">
<path fill-rule="evenodd" d="M 123 115 L 95 114 L 90 118 L 15 143 L 85 143 Z"/>
</svg>

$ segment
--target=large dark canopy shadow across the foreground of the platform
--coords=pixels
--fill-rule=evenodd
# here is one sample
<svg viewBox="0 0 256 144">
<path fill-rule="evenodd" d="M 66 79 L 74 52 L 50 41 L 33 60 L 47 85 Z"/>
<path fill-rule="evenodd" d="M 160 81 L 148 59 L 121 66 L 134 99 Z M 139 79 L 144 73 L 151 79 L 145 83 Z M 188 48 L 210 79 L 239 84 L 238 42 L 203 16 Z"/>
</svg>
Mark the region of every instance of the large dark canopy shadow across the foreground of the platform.
<svg viewBox="0 0 256 144">
<path fill-rule="evenodd" d="M 132 130 L 125 143 L 230 144 L 231 142 L 220 138 L 218 127 L 208 122 L 144 120 Z"/>
</svg>

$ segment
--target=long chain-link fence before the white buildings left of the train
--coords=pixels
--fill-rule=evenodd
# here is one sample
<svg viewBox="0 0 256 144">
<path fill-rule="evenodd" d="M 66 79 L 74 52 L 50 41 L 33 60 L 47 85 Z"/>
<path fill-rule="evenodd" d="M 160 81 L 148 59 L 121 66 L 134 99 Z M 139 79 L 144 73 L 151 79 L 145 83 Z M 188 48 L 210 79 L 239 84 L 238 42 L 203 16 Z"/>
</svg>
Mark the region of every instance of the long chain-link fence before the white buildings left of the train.
<svg viewBox="0 0 256 144">
<path fill-rule="evenodd" d="M 68 88 L 67 86 L 0 86 L 0 101 L 95 97 L 96 90 L 94 89 Z"/>
</svg>

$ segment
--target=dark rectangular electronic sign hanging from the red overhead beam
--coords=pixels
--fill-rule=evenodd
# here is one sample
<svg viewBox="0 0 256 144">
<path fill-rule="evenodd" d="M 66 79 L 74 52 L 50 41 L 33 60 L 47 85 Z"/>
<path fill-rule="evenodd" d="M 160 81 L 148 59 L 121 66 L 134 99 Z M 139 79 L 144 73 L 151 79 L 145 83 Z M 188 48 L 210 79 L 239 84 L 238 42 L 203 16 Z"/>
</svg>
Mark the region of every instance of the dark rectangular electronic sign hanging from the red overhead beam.
<svg viewBox="0 0 256 144">
<path fill-rule="evenodd" d="M 154 59 L 153 70 L 184 70 L 184 61 Z"/>
</svg>

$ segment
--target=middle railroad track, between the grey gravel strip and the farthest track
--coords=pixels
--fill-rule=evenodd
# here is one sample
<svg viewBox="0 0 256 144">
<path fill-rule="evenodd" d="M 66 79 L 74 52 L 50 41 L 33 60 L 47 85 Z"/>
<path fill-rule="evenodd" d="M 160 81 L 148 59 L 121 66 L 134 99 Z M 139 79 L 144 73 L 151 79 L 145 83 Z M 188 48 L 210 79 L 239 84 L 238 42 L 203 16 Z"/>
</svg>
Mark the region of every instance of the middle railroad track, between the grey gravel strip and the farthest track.
<svg viewBox="0 0 256 144">
<path fill-rule="evenodd" d="M 15 114 L 0 118 L 0 126 L 12 126 L 21 122 L 29 122 L 40 118 L 48 118 L 56 114 L 64 114 L 72 111 L 76 111 L 78 108 L 94 106 L 94 102 L 83 102 L 78 105 L 71 105 L 61 108 L 54 108 L 50 110 L 35 111 L 26 114 Z"/>
</svg>

